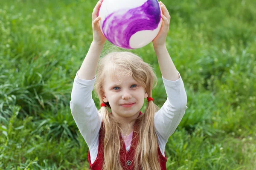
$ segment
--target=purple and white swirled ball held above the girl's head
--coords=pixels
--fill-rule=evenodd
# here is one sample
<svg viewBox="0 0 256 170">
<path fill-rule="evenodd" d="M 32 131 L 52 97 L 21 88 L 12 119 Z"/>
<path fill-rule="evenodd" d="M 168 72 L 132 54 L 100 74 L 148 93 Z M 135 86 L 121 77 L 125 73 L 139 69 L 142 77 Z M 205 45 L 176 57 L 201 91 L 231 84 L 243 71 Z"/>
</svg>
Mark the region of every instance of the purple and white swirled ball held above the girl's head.
<svg viewBox="0 0 256 170">
<path fill-rule="evenodd" d="M 126 49 L 152 42 L 162 24 L 158 0 L 103 0 L 99 17 L 108 41 Z"/>
</svg>

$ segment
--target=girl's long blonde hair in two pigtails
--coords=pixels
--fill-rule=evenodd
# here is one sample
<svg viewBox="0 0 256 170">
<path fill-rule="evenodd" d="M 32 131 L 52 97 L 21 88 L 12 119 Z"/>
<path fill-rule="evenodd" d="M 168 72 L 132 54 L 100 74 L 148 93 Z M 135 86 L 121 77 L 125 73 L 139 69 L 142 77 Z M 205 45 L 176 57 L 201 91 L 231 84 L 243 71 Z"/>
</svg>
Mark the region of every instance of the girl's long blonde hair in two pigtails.
<svg viewBox="0 0 256 170">
<path fill-rule="evenodd" d="M 148 94 L 152 96 L 152 90 L 157 84 L 157 77 L 153 68 L 137 55 L 130 52 L 112 52 L 100 59 L 95 82 L 95 91 L 99 100 L 103 103 L 103 83 L 106 74 L 115 73 L 118 75 L 131 75 Z M 109 108 L 109 103 L 105 103 Z M 153 101 L 148 102 L 145 113 L 137 118 L 137 135 L 139 141 L 136 146 L 134 157 L 134 169 L 160 170 L 158 160 L 158 142 L 154 129 L 154 113 L 159 108 Z M 123 141 L 120 141 L 119 134 L 122 132 L 121 122 L 115 119 L 106 107 L 99 110 L 102 114 L 102 121 L 105 129 L 104 137 L 104 165 L 103 170 L 122 170 L 119 158 L 119 151 Z M 135 129 L 134 129 L 135 130 Z"/>
</svg>

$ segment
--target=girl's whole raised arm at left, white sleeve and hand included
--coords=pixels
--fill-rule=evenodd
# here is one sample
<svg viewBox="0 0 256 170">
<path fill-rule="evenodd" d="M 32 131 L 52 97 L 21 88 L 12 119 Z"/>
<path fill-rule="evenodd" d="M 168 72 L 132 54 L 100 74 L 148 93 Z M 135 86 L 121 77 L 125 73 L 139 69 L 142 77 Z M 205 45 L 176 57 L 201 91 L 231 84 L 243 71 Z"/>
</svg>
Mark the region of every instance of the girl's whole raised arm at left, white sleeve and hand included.
<svg viewBox="0 0 256 170">
<path fill-rule="evenodd" d="M 92 99 L 96 68 L 106 41 L 99 28 L 100 17 L 97 17 L 101 3 L 102 0 L 93 9 L 93 42 L 90 45 L 80 70 L 76 74 L 70 101 L 73 118 L 90 149 L 91 162 L 96 159 L 98 153 L 99 129 L 102 122 L 102 117 L 99 115 Z"/>
</svg>

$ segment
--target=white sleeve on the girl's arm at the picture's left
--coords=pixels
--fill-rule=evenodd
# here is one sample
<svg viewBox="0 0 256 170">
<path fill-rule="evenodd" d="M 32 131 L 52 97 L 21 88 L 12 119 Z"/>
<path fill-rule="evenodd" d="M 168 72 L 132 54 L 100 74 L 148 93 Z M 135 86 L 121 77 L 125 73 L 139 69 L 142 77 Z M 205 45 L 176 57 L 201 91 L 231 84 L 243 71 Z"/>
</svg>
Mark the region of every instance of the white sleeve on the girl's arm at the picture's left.
<svg viewBox="0 0 256 170">
<path fill-rule="evenodd" d="M 94 82 L 95 77 L 92 80 L 80 79 L 77 72 L 70 101 L 71 113 L 90 149 L 92 162 L 96 159 L 98 153 L 99 129 L 102 122 L 102 116 L 99 114 L 92 99 Z"/>
</svg>

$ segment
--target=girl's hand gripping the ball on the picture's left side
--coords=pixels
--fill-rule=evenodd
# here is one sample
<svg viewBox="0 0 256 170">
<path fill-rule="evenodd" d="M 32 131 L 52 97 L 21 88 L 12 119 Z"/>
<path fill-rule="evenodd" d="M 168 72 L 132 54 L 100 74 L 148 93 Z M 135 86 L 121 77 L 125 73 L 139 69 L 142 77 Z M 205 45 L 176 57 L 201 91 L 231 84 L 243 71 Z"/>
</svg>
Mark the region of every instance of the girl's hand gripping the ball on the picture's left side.
<svg viewBox="0 0 256 170">
<path fill-rule="evenodd" d="M 99 8 L 102 4 L 103 0 L 99 0 L 96 6 L 93 9 L 93 22 L 92 22 L 92 27 L 93 27 L 93 42 L 95 42 L 98 45 L 104 45 L 106 42 L 106 37 L 102 34 L 102 31 L 99 26 L 99 20 L 101 20 L 101 17 L 98 17 L 98 12 Z"/>
</svg>

